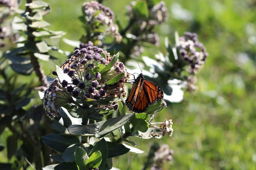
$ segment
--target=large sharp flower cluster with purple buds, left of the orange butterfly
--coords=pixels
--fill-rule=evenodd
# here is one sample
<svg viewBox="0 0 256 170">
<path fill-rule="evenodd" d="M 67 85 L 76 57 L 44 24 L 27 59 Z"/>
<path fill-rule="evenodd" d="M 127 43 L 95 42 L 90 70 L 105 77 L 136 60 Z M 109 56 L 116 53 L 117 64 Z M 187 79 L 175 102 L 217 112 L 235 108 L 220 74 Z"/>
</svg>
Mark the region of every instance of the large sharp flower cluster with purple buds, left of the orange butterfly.
<svg viewBox="0 0 256 170">
<path fill-rule="evenodd" d="M 55 79 L 44 94 L 44 109 L 51 119 L 67 103 L 97 111 L 117 110 L 117 99 L 126 97 L 125 66 L 118 61 L 119 54 L 110 54 L 96 46 L 76 49 L 61 67 L 67 78 Z M 109 100 L 111 98 L 111 100 Z M 106 104 L 106 101 L 109 104 Z M 108 103 L 108 102 L 107 102 Z"/>
</svg>

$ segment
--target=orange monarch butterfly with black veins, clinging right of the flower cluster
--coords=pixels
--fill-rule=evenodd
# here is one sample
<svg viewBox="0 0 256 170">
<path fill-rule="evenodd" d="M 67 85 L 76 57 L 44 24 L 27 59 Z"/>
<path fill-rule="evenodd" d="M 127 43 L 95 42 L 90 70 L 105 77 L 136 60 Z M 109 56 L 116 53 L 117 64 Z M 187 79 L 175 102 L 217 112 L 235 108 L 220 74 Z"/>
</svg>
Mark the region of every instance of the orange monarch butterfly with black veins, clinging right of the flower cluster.
<svg viewBox="0 0 256 170">
<path fill-rule="evenodd" d="M 135 79 L 125 105 L 131 111 L 142 113 L 148 109 L 148 105 L 154 105 L 160 99 L 163 99 L 162 89 L 154 82 L 144 79 L 141 73 Z"/>
</svg>

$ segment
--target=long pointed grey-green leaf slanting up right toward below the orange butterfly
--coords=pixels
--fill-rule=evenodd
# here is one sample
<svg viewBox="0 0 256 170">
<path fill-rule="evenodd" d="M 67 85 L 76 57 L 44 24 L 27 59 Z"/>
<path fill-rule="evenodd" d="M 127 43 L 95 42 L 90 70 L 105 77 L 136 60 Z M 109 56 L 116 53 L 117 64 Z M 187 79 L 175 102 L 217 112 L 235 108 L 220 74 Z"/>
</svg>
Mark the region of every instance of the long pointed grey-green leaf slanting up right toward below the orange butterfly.
<svg viewBox="0 0 256 170">
<path fill-rule="evenodd" d="M 116 130 L 122 125 L 125 125 L 125 123 L 129 122 L 133 116 L 134 113 L 131 113 L 124 116 L 114 117 L 106 121 L 97 122 L 96 124 L 99 125 L 99 133 L 97 133 L 95 137 L 101 138 L 105 136 L 107 133 Z"/>
</svg>

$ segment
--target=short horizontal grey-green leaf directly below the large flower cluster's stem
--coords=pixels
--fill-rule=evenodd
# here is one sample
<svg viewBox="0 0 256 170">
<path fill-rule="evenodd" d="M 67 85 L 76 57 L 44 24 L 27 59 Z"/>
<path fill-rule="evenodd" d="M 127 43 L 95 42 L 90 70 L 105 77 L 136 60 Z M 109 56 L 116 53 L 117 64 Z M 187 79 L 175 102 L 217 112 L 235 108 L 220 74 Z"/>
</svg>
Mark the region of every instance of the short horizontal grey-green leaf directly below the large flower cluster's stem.
<svg viewBox="0 0 256 170">
<path fill-rule="evenodd" d="M 89 125 L 71 125 L 67 131 L 73 135 L 93 136 L 99 132 L 99 126 L 96 124 Z"/>
</svg>

